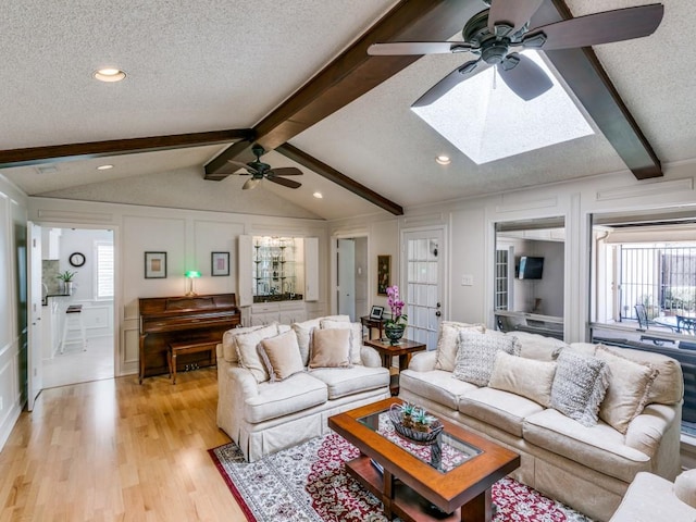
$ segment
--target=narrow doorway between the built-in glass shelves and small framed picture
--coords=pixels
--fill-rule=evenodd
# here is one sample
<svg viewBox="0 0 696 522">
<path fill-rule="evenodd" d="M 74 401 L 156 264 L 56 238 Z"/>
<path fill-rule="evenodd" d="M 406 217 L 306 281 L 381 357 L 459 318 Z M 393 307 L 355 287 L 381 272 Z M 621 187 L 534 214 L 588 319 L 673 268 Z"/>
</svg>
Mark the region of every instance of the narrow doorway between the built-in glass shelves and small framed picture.
<svg viewBox="0 0 696 522">
<path fill-rule="evenodd" d="M 358 321 L 368 314 L 368 237 L 336 239 L 336 310 Z"/>
</svg>

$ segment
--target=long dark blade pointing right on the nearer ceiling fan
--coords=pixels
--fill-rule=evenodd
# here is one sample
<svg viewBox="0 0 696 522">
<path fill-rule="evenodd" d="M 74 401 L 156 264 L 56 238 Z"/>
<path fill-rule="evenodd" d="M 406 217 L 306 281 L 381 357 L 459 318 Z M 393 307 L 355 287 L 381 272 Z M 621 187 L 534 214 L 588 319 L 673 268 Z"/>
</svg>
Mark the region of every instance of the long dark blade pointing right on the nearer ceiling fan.
<svg viewBox="0 0 696 522">
<path fill-rule="evenodd" d="M 537 27 L 524 36 L 522 44 L 550 51 L 641 38 L 655 33 L 663 14 L 664 5 L 661 3 L 588 14 Z M 540 33 L 546 35 L 546 41 L 538 46 L 535 36 Z"/>
</svg>

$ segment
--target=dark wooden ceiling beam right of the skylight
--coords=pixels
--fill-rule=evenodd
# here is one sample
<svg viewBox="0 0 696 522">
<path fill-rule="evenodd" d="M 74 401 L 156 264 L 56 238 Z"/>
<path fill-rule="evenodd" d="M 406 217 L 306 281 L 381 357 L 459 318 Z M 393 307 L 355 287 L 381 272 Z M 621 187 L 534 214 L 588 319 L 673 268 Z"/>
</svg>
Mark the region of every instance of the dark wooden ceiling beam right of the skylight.
<svg viewBox="0 0 696 522">
<path fill-rule="evenodd" d="M 534 27 L 572 18 L 564 0 L 547 0 Z M 592 48 L 546 51 L 587 113 L 637 179 L 662 176 L 655 150 L 629 111 Z"/>
</svg>

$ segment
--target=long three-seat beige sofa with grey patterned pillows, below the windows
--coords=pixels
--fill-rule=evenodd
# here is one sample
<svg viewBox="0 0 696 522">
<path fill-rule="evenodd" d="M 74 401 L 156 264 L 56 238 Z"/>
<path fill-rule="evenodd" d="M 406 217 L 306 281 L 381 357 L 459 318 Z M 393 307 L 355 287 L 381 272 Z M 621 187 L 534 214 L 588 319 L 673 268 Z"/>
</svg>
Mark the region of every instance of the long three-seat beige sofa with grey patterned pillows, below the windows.
<svg viewBox="0 0 696 522">
<path fill-rule="evenodd" d="M 495 365 L 499 368 L 494 366 L 495 375 L 490 375 L 488 385 L 474 385 L 453 378 L 457 371 L 451 369 L 459 362 L 452 360 L 452 350 L 458 357 L 461 353 L 452 343 L 461 343 L 462 335 L 471 337 L 461 332 L 472 327 L 477 328 L 477 335 L 485 331 L 482 325 L 444 322 L 438 349 L 415 355 L 409 369 L 401 372 L 399 397 L 519 452 L 521 467 L 512 476 L 596 520 L 610 519 L 637 473 L 651 472 L 668 480 L 676 476 L 680 471 L 683 396 L 682 372 L 676 361 L 657 353 L 588 344 L 568 346 L 540 335 L 514 333 L 508 337 L 514 335 L 519 353 L 496 355 L 501 361 L 513 363 L 506 366 L 496 359 Z M 504 336 L 498 332 L 483 334 L 489 335 Z M 637 417 L 623 420 L 620 427 L 625 433 L 602 419 L 594 425 L 584 425 L 534 395 L 538 388 L 544 388 L 540 383 L 548 383 L 547 370 L 552 368 L 557 357 L 560 361 L 561 353 L 564 361 L 576 359 L 580 357 L 577 353 L 594 360 L 598 353 L 613 358 L 612 364 L 629 360 L 626 368 L 633 368 L 632 362 L 641 363 L 636 366 L 638 369 L 649 363 L 645 373 L 651 372 L 650 383 L 645 390 L 644 405 L 641 405 L 645 408 L 636 410 L 639 412 Z M 507 368 L 508 373 L 498 371 L 500 368 Z M 532 368 L 533 371 L 526 376 L 515 376 L 514 373 L 522 368 Z M 612 368 L 613 373 L 604 374 L 610 375 L 609 387 L 599 411 L 616 424 L 611 415 L 621 411 L 623 406 L 609 409 L 605 408 L 605 402 L 609 406 L 617 401 L 618 380 L 622 377 L 623 366 Z M 499 375 L 501 372 L 502 377 Z M 557 371 L 550 377 L 549 386 L 560 386 L 556 382 L 558 375 Z M 624 378 L 626 376 L 630 377 L 623 375 Z M 494 377 L 496 387 L 490 385 Z M 612 378 L 616 381 L 613 384 Z M 547 386 L 546 389 L 548 393 L 551 388 Z M 584 419 L 583 422 L 587 423 Z"/>
</svg>

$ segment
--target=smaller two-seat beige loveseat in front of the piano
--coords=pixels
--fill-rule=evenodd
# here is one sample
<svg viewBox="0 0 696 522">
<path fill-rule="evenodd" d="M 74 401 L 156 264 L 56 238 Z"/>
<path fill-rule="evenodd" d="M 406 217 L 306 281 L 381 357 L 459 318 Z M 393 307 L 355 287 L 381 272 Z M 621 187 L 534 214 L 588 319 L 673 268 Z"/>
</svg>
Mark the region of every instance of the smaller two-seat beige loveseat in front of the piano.
<svg viewBox="0 0 696 522">
<path fill-rule="evenodd" d="M 336 341 L 336 347 L 344 347 L 345 338 L 349 338 L 347 364 L 332 366 L 332 337 L 324 337 L 330 339 L 331 349 L 323 359 L 319 350 L 310 353 L 313 328 L 350 332 L 349 337 Z M 256 352 L 263 352 L 262 346 L 273 343 L 281 349 L 269 352 L 269 360 L 254 359 Z M 268 370 L 263 373 L 262 365 L 275 363 L 277 369 L 278 357 L 295 356 L 295 350 L 299 350 L 301 360 L 295 363 L 296 373 L 282 375 L 282 380 L 273 380 Z M 312 361 L 322 368 L 308 368 Z M 382 368 L 376 350 L 362 346 L 362 325 L 350 323 L 347 316 L 226 332 L 217 345 L 217 426 L 250 462 L 327 433 L 331 415 L 390 395 L 388 370 Z"/>
</svg>

